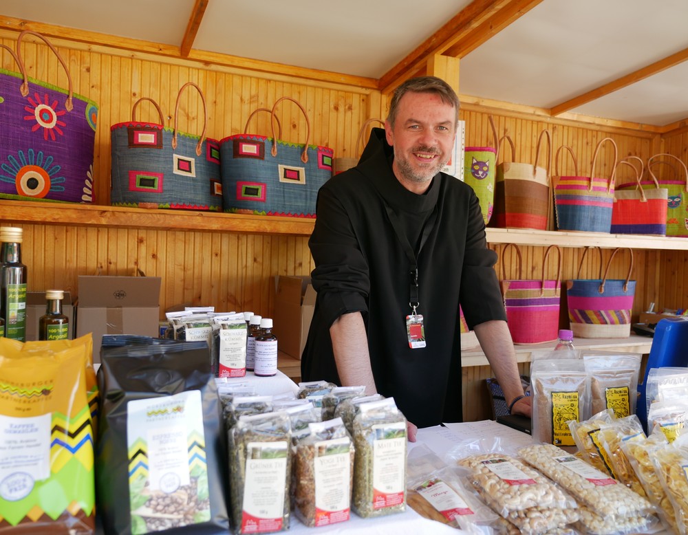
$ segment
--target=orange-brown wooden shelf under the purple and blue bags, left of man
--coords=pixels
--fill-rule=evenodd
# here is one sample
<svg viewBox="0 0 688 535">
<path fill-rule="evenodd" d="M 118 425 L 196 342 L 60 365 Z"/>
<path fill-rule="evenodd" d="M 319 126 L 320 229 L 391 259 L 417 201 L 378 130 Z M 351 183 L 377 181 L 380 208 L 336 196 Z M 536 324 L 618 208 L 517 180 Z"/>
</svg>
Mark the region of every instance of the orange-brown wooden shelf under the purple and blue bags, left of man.
<svg viewBox="0 0 688 535">
<path fill-rule="evenodd" d="M 3 223 L 310 236 L 315 219 L 2 199 L 0 200 L 0 221 Z"/>
</svg>

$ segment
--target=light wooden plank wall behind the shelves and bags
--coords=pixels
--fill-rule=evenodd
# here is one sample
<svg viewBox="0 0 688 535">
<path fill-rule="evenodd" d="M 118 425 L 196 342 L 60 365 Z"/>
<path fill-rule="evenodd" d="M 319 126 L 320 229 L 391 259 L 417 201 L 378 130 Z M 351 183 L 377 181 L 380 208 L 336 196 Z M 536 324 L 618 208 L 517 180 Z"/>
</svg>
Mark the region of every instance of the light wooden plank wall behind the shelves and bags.
<svg viewBox="0 0 688 535">
<path fill-rule="evenodd" d="M 0 30 L 0 42 L 14 47 L 16 35 Z M 270 107 L 281 96 L 292 96 L 308 110 L 312 124 L 310 142 L 331 146 L 336 156 L 355 155 L 354 144 L 361 125 L 367 118 L 381 117 L 385 112 L 385 98 L 370 89 L 248 72 L 229 64 L 224 67 L 201 65 L 63 40 L 54 40 L 54 43 L 69 65 L 75 91 L 95 100 L 100 107 L 94 160 L 94 195 L 98 204 L 109 203 L 109 126 L 129 120 L 133 103 L 138 98 L 147 96 L 156 100 L 164 111 L 167 126 L 173 126 L 173 116 L 176 116 L 181 131 L 200 132 L 202 104 L 193 89 L 182 96 L 179 112 L 175 113 L 178 90 L 187 81 L 197 83 L 204 91 L 208 106 L 207 135 L 215 139 L 243 132 L 253 110 Z M 23 45 L 23 55 L 30 76 L 65 87 L 65 73 L 45 45 L 29 40 Z M 17 69 L 10 55 L 1 49 L 0 66 Z M 535 159 L 537 136 L 542 129 L 548 128 L 555 149 L 562 144 L 572 147 L 581 173 L 588 172 L 596 142 L 607 135 L 619 147 L 619 157 L 638 155 L 645 159 L 664 148 L 685 160 L 688 146 L 686 133 L 663 140 L 640 130 L 553 120 L 526 115 L 515 109 L 486 110 L 475 104 L 462 107 L 466 144 L 493 144 L 488 113 L 493 114 L 499 135 L 508 133 L 513 138 L 516 161 Z M 305 120 L 297 107 L 284 105 L 278 117 L 284 139 L 303 141 Z M 139 107 L 137 118 L 158 120 L 157 113 L 147 103 Z M 268 125 L 268 114 L 261 113 L 249 129 L 269 134 Z M 600 172 L 608 173 L 611 165 L 611 153 L 605 149 L 599 162 Z M 561 173 L 574 172 L 568 156 L 562 157 L 560 170 Z M 272 276 L 305 275 L 314 267 L 308 237 L 40 224 L 21 226 L 25 229 L 23 259 L 30 270 L 30 290 L 58 287 L 78 294 L 79 274 L 131 275 L 140 269 L 145 274 L 162 277 L 162 310 L 190 303 L 214 305 L 222 310 L 251 309 L 264 316 L 270 315 L 274 298 Z M 502 245 L 492 247 L 499 254 L 504 250 Z M 543 252 L 541 247 L 522 248 L 524 277 L 540 276 Z M 562 278 L 577 276 L 581 250 L 563 248 L 562 253 Z M 605 261 L 609 254 L 608 250 L 603 253 Z M 553 272 L 555 262 L 554 257 L 550 258 L 548 272 Z M 626 262 L 625 256 L 617 259 L 610 277 L 625 278 Z M 509 270 L 513 269 L 513 263 L 513 253 L 506 253 Z M 653 301 L 658 307 L 676 308 L 688 304 L 686 264 L 685 252 L 635 251 L 634 317 Z M 596 276 L 598 270 L 599 261 L 591 254 L 580 275 Z M 562 317 L 562 321 L 565 318 Z M 521 368 L 522 373 L 528 373 L 527 364 Z M 464 369 L 464 406 L 468 419 L 490 417 L 484 387 L 484 379 L 490 376 L 489 367 Z"/>
</svg>

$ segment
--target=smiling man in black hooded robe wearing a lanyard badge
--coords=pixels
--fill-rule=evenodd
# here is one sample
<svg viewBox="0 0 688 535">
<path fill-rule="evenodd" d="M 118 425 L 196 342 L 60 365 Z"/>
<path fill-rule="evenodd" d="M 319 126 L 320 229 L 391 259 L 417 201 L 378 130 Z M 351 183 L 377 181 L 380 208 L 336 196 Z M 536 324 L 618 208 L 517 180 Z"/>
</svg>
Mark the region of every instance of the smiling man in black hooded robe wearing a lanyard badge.
<svg viewBox="0 0 688 535">
<path fill-rule="evenodd" d="M 440 172 L 458 113 L 440 78 L 398 87 L 358 165 L 321 188 L 309 241 L 318 298 L 303 380 L 363 384 L 420 427 L 462 421 L 459 304 L 512 411 L 530 416 L 480 204 Z"/>
</svg>

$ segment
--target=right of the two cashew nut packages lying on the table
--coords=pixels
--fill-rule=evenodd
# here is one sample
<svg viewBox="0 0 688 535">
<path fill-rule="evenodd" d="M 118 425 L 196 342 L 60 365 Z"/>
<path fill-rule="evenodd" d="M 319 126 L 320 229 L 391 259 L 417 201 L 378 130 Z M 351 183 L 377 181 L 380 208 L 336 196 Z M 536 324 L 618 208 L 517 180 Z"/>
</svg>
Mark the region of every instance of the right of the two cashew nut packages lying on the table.
<svg viewBox="0 0 688 535">
<path fill-rule="evenodd" d="M 647 523 L 652 520 L 654 507 L 647 499 L 557 446 L 526 446 L 519 450 L 519 455 L 570 492 L 580 505 L 586 505 L 600 516 L 617 519 L 647 516 Z"/>
</svg>

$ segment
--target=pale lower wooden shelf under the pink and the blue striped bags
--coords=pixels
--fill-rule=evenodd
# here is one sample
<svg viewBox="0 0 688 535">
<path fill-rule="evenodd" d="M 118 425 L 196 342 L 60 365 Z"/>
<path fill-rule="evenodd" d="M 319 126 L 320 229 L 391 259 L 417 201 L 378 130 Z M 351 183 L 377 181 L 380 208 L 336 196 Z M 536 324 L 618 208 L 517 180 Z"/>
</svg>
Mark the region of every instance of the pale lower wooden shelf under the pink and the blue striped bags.
<svg viewBox="0 0 688 535">
<path fill-rule="evenodd" d="M 534 351 L 548 351 L 555 348 L 557 342 L 545 342 L 544 344 L 516 345 L 517 362 L 530 362 Z M 574 338 L 573 345 L 576 349 L 592 349 L 597 351 L 622 351 L 623 353 L 649 353 L 652 347 L 652 338 L 632 334 L 628 338 Z M 477 349 L 461 351 L 461 365 L 489 366 L 484 353 Z"/>
</svg>

